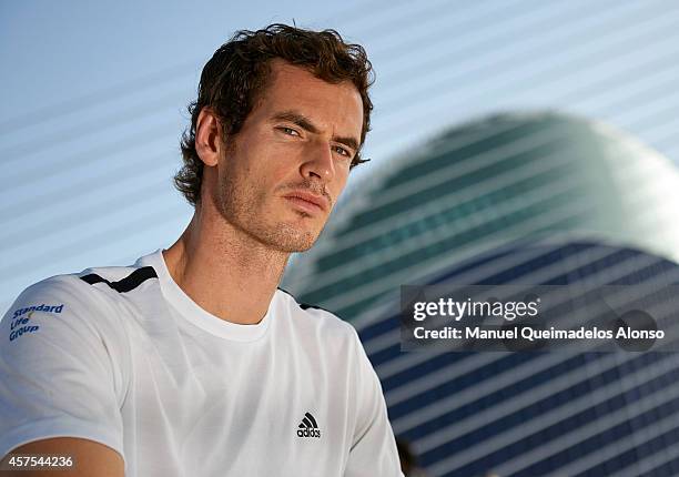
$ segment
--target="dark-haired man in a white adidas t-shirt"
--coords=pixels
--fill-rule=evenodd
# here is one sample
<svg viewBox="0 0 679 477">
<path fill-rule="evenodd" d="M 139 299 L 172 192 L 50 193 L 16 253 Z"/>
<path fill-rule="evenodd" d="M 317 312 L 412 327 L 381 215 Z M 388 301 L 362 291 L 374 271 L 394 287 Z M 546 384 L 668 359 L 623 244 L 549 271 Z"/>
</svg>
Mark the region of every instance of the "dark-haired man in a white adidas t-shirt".
<svg viewBox="0 0 679 477">
<path fill-rule="evenodd" d="M 195 206 L 186 231 L 132 266 L 40 282 L 0 323 L 6 463 L 72 457 L 78 476 L 401 475 L 356 332 L 276 288 L 362 162 L 369 83 L 363 49 L 332 30 L 274 24 L 215 52 L 175 177 Z"/>
</svg>

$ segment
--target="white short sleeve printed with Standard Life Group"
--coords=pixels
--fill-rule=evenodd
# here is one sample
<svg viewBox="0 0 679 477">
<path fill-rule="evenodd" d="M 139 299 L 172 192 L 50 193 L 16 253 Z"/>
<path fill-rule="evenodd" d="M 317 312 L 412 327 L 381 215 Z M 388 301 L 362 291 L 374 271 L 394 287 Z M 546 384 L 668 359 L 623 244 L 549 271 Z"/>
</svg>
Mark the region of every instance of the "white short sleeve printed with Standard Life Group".
<svg viewBox="0 0 679 477">
<path fill-rule="evenodd" d="M 120 331 L 89 287 L 49 278 L 0 321 L 0 456 L 50 437 L 95 440 L 123 456 Z"/>
</svg>

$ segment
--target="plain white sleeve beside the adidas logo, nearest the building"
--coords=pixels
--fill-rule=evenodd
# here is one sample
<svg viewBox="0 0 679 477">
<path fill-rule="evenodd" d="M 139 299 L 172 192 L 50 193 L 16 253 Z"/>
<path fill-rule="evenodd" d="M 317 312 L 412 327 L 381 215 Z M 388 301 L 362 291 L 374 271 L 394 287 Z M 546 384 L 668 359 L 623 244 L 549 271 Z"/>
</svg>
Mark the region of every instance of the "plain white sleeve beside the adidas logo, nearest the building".
<svg viewBox="0 0 679 477">
<path fill-rule="evenodd" d="M 353 329 L 353 327 L 352 327 Z M 345 477 L 403 476 L 379 378 L 355 329 L 357 419 Z"/>
</svg>

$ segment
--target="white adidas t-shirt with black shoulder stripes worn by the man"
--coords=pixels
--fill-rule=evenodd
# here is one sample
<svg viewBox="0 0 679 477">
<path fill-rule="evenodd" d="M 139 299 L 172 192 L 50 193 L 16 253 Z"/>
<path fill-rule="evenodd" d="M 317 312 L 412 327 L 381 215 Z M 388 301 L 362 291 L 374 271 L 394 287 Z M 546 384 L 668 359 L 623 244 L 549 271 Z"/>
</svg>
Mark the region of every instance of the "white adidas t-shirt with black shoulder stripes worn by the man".
<svg viewBox="0 0 679 477">
<path fill-rule="evenodd" d="M 80 437 L 126 476 L 401 476 L 379 380 L 348 323 L 277 290 L 220 319 L 161 251 L 27 288 L 0 322 L 0 456 Z"/>
</svg>

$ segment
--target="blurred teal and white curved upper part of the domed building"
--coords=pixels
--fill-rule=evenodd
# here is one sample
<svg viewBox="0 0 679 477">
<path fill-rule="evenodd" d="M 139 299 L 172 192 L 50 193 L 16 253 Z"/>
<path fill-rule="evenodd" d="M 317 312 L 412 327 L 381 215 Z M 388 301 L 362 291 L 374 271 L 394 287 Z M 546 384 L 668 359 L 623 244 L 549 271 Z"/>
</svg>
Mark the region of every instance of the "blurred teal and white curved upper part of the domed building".
<svg viewBox="0 0 679 477">
<path fill-rule="evenodd" d="M 449 129 L 347 191 L 284 286 L 354 319 L 406 283 L 524 240 L 679 258 L 679 173 L 624 132 L 555 112 Z"/>
</svg>

